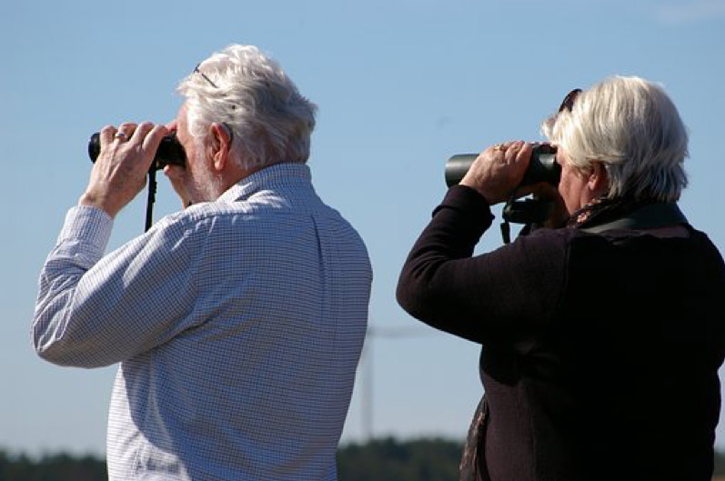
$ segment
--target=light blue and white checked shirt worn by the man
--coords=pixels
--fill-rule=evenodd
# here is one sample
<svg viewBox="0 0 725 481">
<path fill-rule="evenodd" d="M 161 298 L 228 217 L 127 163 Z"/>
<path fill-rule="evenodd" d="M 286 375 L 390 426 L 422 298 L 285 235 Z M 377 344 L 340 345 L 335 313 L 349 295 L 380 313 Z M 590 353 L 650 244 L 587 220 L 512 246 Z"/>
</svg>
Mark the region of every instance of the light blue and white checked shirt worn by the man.
<svg viewBox="0 0 725 481">
<path fill-rule="evenodd" d="M 104 256 L 111 227 L 69 211 L 32 326 L 55 364 L 121 363 L 109 478 L 337 479 L 372 273 L 307 165 L 267 167 Z"/>
</svg>

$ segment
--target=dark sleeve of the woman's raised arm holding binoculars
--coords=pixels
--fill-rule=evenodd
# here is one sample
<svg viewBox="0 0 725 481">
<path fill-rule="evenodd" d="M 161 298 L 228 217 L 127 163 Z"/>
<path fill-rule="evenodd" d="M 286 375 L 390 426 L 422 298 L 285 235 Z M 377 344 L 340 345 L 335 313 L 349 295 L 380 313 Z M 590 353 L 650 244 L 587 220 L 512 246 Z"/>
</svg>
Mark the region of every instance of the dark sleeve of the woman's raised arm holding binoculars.
<svg viewBox="0 0 725 481">
<path fill-rule="evenodd" d="M 565 282 L 565 235 L 540 229 L 472 256 L 492 220 L 478 192 L 448 190 L 398 279 L 408 314 L 481 344 L 518 342 L 549 323 Z"/>
</svg>

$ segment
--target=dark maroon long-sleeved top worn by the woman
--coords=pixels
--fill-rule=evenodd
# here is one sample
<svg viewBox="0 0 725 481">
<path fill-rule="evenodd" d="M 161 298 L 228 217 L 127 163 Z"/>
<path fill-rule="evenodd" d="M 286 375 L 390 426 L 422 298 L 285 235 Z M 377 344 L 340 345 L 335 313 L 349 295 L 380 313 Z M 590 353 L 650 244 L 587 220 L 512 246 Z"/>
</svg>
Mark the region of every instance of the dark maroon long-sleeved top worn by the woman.
<svg viewBox="0 0 725 481">
<path fill-rule="evenodd" d="M 539 229 L 474 256 L 493 216 L 454 186 L 398 302 L 482 346 L 493 481 L 710 480 L 725 265 L 707 235 Z"/>
</svg>

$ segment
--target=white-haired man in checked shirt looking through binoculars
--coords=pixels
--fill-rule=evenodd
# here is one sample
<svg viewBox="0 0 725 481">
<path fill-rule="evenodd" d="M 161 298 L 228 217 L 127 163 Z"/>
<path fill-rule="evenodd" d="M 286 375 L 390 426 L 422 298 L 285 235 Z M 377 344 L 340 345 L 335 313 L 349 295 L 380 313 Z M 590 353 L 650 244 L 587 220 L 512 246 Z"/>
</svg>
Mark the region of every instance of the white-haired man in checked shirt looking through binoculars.
<svg viewBox="0 0 725 481">
<path fill-rule="evenodd" d="M 334 480 L 371 269 L 307 167 L 315 105 L 256 47 L 180 85 L 166 126 L 106 126 L 40 276 L 33 343 L 62 366 L 121 363 L 112 480 Z M 104 256 L 166 135 L 183 211 Z"/>
</svg>

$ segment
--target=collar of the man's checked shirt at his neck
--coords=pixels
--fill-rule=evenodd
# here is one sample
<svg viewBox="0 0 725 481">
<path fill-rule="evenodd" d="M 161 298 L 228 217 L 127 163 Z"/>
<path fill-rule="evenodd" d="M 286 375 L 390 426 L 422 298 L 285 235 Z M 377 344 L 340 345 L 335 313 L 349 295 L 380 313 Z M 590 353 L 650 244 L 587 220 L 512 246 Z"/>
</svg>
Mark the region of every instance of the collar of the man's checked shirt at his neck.
<svg viewBox="0 0 725 481">
<path fill-rule="evenodd" d="M 284 162 L 270 165 L 232 185 L 224 194 L 219 195 L 216 201 L 235 202 L 245 200 L 260 190 L 282 185 L 299 184 L 300 182 L 309 183 L 311 180 L 312 175 L 306 164 Z"/>
</svg>

